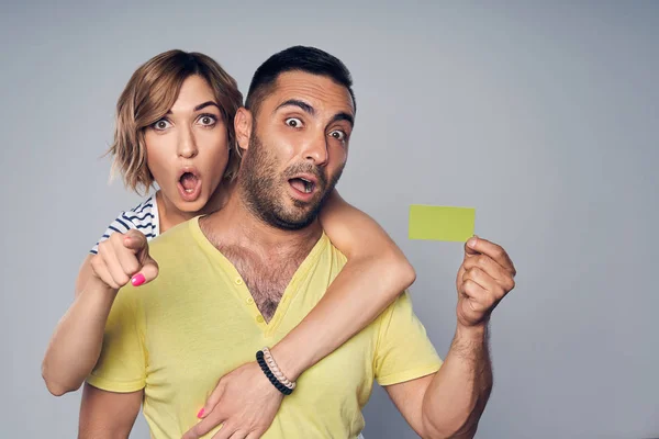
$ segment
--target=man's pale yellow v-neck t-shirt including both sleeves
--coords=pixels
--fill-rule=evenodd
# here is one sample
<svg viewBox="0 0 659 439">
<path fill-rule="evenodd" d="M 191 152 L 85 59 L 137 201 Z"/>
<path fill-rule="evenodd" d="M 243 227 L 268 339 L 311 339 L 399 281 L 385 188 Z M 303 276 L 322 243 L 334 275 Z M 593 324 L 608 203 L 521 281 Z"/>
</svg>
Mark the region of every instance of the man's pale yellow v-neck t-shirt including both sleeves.
<svg viewBox="0 0 659 439">
<path fill-rule="evenodd" d="M 119 292 L 101 358 L 88 378 L 91 385 L 111 392 L 144 389 L 144 416 L 156 439 L 178 439 L 194 426 L 197 412 L 217 380 L 282 339 L 346 263 L 322 235 L 266 323 L 241 274 L 206 239 L 198 219 L 152 240 L 159 275 Z M 298 379 L 298 387 L 284 396 L 263 437 L 355 438 L 364 428 L 361 408 L 373 379 L 390 385 L 427 375 L 440 365 L 405 292 Z"/>
</svg>

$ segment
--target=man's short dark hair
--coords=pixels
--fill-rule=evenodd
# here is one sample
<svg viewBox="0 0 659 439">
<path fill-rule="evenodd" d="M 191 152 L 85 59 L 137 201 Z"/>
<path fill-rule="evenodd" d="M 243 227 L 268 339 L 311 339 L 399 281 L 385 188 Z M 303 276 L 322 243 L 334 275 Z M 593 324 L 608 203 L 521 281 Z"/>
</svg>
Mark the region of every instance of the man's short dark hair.
<svg viewBox="0 0 659 439">
<path fill-rule="evenodd" d="M 245 108 L 254 114 L 268 95 L 279 75 L 287 71 L 304 71 L 331 78 L 334 82 L 348 89 L 353 99 L 353 108 L 357 111 L 357 101 L 353 92 L 353 77 L 348 68 L 334 55 L 315 47 L 293 46 L 269 57 L 261 64 L 252 78 Z"/>
</svg>

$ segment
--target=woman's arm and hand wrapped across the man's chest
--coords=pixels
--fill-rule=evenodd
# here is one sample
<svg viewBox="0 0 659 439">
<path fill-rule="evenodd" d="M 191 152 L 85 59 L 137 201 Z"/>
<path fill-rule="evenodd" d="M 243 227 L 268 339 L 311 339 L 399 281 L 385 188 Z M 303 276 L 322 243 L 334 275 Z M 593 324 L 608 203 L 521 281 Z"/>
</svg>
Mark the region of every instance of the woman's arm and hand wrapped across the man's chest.
<svg viewBox="0 0 659 439">
<path fill-rule="evenodd" d="M 348 262 L 309 315 L 270 349 L 291 381 L 364 329 L 416 275 L 378 223 L 346 203 L 336 191 L 320 218 Z M 223 420 L 258 437 L 272 423 L 281 401 L 281 394 L 256 362 L 243 364 L 222 376 L 199 410 L 198 417 L 203 419 L 185 438 L 200 438 Z"/>
</svg>

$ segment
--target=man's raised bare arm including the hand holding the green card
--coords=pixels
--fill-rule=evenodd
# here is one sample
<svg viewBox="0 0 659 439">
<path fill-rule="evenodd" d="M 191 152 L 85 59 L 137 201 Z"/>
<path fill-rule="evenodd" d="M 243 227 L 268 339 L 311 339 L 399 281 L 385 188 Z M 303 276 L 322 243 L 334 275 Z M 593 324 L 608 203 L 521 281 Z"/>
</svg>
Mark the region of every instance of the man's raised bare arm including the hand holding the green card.
<svg viewBox="0 0 659 439">
<path fill-rule="evenodd" d="M 515 288 L 513 261 L 496 244 L 478 237 L 465 244 L 456 277 L 457 328 L 435 375 L 392 384 L 387 391 L 423 438 L 472 438 L 492 390 L 488 349 L 490 315 Z"/>
</svg>

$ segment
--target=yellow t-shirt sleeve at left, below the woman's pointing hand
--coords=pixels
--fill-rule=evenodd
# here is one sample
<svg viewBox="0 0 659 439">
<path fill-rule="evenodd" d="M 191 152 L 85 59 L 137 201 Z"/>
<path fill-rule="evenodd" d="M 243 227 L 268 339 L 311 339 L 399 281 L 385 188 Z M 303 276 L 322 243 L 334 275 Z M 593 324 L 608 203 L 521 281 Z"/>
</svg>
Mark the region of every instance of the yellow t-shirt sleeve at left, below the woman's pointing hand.
<svg viewBox="0 0 659 439">
<path fill-rule="evenodd" d="M 87 382 L 109 392 L 135 392 L 146 384 L 144 320 L 136 291 L 116 294 L 105 324 L 101 356 Z"/>
</svg>

